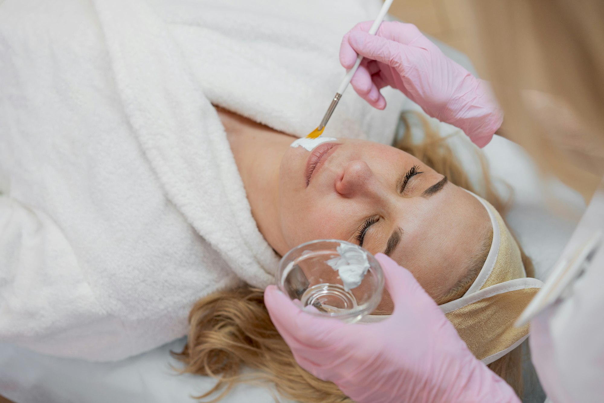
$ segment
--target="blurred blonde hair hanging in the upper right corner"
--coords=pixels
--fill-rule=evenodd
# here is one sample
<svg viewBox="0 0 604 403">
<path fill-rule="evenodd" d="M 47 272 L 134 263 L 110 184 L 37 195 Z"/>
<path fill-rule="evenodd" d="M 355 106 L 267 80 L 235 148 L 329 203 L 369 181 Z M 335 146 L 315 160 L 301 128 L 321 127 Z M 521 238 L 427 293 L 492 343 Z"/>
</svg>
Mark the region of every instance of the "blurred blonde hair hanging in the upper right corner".
<svg viewBox="0 0 604 403">
<path fill-rule="evenodd" d="M 589 198 L 604 174 L 604 2 L 469 4 L 502 133 Z"/>
</svg>

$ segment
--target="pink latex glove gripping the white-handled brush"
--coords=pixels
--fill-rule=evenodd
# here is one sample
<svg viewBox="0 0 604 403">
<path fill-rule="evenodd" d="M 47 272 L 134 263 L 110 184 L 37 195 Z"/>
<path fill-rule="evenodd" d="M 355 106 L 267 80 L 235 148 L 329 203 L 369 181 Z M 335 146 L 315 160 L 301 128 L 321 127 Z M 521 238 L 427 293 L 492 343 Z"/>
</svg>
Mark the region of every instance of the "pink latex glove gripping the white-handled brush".
<svg viewBox="0 0 604 403">
<path fill-rule="evenodd" d="M 340 47 L 340 63 L 346 69 L 355 64 L 357 53 L 364 57 L 350 82 L 355 91 L 384 109 L 386 100 L 379 90 L 390 85 L 426 114 L 459 127 L 477 146 L 486 146 L 503 121 L 488 83 L 446 57 L 415 25 L 384 21 L 370 35 L 371 24 L 357 24 Z"/>
</svg>

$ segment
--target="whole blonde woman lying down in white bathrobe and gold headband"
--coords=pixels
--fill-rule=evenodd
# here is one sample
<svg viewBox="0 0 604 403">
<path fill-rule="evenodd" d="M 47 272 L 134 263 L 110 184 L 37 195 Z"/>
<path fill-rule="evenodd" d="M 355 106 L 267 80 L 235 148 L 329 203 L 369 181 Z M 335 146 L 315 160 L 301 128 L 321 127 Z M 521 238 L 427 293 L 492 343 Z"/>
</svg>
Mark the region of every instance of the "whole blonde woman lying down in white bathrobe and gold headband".
<svg viewBox="0 0 604 403">
<path fill-rule="evenodd" d="M 490 183 L 429 130 L 387 145 L 407 102 L 388 88 L 385 111 L 342 98 L 336 141 L 291 147 L 342 76 L 342 35 L 380 2 L 246 1 L 228 19 L 213 2 L 94 3 L 0 8 L 0 340 L 106 361 L 188 334 L 184 372 L 216 390 L 250 381 L 246 364 L 286 397 L 342 401 L 262 298 L 288 250 L 342 239 L 411 271 L 521 390 L 530 288 L 476 294 L 532 276 Z M 386 293 L 372 320 L 392 311 Z"/>
</svg>

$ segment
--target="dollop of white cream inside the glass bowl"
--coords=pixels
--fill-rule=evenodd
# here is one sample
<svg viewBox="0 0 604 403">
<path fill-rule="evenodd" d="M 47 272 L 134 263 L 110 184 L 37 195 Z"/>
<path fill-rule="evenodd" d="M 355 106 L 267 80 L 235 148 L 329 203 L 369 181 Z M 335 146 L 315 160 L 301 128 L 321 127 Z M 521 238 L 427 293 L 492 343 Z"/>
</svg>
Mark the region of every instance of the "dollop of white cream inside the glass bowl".
<svg viewBox="0 0 604 403">
<path fill-rule="evenodd" d="M 327 264 L 338 271 L 344 289 L 350 291 L 361 285 L 365 274 L 367 274 L 369 269 L 367 253 L 356 245 L 345 243 L 340 243 L 336 250 L 340 256 L 327 260 Z"/>
</svg>

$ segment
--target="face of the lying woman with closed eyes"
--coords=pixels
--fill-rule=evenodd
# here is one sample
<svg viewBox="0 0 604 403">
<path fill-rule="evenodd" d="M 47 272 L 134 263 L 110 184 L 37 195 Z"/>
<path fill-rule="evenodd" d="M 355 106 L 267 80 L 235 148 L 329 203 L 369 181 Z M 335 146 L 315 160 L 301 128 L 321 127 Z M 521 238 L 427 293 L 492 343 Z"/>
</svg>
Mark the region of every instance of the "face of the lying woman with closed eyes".
<svg viewBox="0 0 604 403">
<path fill-rule="evenodd" d="M 281 160 L 280 211 L 289 248 L 343 239 L 386 253 L 434 298 L 466 274 L 490 228 L 474 196 L 414 156 L 362 140 L 290 148 Z"/>
</svg>

